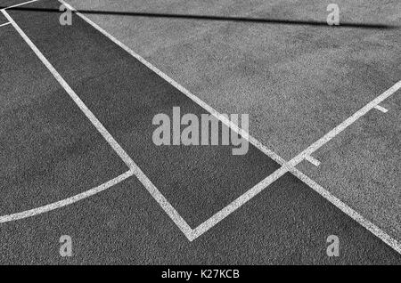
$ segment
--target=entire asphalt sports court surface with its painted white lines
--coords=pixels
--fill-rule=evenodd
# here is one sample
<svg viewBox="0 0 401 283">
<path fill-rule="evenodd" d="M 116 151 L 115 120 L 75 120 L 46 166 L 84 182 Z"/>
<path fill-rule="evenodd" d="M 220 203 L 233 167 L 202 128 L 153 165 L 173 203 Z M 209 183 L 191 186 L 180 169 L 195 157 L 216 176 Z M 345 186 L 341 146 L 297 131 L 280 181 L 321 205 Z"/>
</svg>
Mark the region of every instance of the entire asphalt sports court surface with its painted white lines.
<svg viewBox="0 0 401 283">
<path fill-rule="evenodd" d="M 0 263 L 401 263 L 401 3 L 338 1 L 361 24 L 329 27 L 313 0 L 69 1 L 71 26 L 21 2 L 0 1 Z M 249 114 L 248 153 L 156 146 L 177 106 Z"/>
</svg>

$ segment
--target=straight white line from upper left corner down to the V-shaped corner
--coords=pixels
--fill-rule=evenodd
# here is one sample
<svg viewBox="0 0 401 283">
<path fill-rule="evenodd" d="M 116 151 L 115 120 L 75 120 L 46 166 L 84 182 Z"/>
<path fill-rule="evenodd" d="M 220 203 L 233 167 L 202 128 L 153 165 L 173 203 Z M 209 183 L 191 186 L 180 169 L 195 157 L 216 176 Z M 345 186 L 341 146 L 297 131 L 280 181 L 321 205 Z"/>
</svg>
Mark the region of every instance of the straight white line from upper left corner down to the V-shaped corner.
<svg viewBox="0 0 401 283">
<path fill-rule="evenodd" d="M 114 140 L 111 134 L 106 130 L 102 123 L 94 116 L 94 114 L 86 107 L 83 101 L 80 100 L 77 93 L 75 93 L 70 85 L 61 77 L 53 65 L 47 61 L 43 53 L 41 53 L 35 44 L 29 39 L 29 37 L 20 29 L 17 23 L 12 20 L 12 17 L 2 10 L 4 16 L 12 23 L 12 26 L 18 31 L 20 36 L 25 40 L 29 47 L 37 54 L 37 57 L 42 61 L 46 68 L 52 73 L 53 77 L 59 82 L 59 84 L 69 93 L 71 99 L 76 102 L 79 109 L 81 109 L 86 117 L 91 121 L 91 123 L 96 127 L 97 131 L 102 134 L 103 138 L 110 144 L 111 148 L 117 152 L 119 157 L 127 164 L 130 168 L 130 172 L 133 172 L 140 182 L 143 183 L 146 190 L 151 193 L 151 196 L 156 199 L 163 210 L 168 214 L 168 216 L 176 223 L 178 228 L 183 231 L 184 235 L 188 238 L 192 238 L 192 229 L 184 221 L 184 219 L 176 212 L 176 209 L 170 205 L 168 200 L 163 197 L 160 191 L 152 184 L 151 180 L 143 174 L 142 170 L 135 164 L 135 162 L 127 155 L 127 152 L 121 148 L 118 142 Z"/>
</svg>

